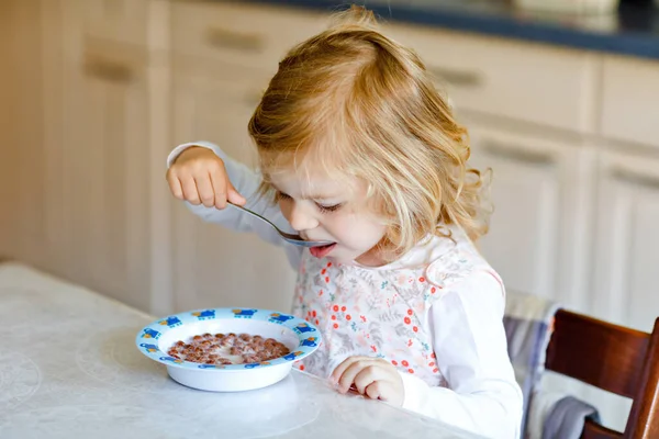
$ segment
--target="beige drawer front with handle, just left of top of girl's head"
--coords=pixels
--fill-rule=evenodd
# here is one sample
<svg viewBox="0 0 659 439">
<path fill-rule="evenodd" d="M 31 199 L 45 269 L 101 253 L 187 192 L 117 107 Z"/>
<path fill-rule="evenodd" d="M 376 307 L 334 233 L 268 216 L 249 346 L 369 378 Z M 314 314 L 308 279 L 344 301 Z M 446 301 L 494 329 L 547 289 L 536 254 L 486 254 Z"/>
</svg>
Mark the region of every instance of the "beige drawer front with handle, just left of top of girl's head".
<svg viewBox="0 0 659 439">
<path fill-rule="evenodd" d="M 235 3 L 172 3 L 177 53 L 277 69 L 288 49 L 325 27 L 321 14 Z"/>
</svg>

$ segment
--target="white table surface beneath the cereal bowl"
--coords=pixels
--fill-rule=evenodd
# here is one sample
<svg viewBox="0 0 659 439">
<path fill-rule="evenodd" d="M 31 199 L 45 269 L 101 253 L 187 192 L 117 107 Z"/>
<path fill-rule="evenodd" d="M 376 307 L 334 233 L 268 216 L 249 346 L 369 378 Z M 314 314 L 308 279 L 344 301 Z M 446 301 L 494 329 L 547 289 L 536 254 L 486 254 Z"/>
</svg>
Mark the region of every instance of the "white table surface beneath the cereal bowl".
<svg viewBox="0 0 659 439">
<path fill-rule="evenodd" d="M 297 371 L 253 392 L 181 386 L 135 348 L 153 319 L 0 264 L 0 438 L 474 438 Z"/>
</svg>

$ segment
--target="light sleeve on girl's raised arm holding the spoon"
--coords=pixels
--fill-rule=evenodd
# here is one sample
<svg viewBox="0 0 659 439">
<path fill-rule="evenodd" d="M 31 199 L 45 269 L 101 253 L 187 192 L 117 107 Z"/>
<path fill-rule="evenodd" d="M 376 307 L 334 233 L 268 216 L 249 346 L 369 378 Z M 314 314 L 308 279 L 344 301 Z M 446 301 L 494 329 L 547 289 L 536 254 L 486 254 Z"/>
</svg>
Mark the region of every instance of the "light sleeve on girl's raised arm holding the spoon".
<svg viewBox="0 0 659 439">
<path fill-rule="evenodd" d="M 167 157 L 167 167 L 169 168 L 182 151 L 192 146 L 209 148 L 224 161 L 224 167 L 226 168 L 226 173 L 228 175 L 231 183 L 236 188 L 241 195 L 247 200 L 245 207 L 268 218 L 280 229 L 295 233 L 281 213 L 279 205 L 259 196 L 258 187 L 261 182 L 260 173 L 234 160 L 217 145 L 203 140 L 179 145 L 174 148 Z M 280 238 L 277 230 L 267 223 L 231 205 L 226 209 L 219 210 L 215 207 L 206 207 L 203 204 L 194 205 L 186 202 L 186 206 L 203 221 L 220 224 L 235 232 L 255 233 L 265 241 L 282 247 L 293 269 L 298 269 L 302 256 L 302 248 L 286 243 Z"/>
</svg>

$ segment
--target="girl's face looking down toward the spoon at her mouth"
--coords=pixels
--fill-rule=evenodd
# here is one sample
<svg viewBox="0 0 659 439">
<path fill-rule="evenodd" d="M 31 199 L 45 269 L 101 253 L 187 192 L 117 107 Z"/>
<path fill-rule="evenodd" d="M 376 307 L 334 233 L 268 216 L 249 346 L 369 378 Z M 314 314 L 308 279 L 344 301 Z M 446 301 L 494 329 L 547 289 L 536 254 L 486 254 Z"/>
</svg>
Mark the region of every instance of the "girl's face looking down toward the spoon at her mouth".
<svg viewBox="0 0 659 439">
<path fill-rule="evenodd" d="M 322 172 L 278 172 L 271 176 L 283 216 L 309 240 L 331 240 L 312 255 L 365 266 L 386 263 L 375 248 L 386 226 L 367 207 L 367 187 L 354 179 L 331 179 Z"/>
</svg>

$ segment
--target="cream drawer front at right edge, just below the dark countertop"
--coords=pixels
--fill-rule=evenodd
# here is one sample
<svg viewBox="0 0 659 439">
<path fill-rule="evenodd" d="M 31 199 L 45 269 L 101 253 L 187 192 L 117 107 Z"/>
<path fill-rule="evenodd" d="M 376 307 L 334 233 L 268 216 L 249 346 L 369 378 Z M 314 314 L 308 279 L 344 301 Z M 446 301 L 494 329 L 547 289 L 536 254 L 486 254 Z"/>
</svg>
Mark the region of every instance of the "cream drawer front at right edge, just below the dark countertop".
<svg viewBox="0 0 659 439">
<path fill-rule="evenodd" d="M 659 148 L 659 63 L 604 60 L 600 124 L 605 137 Z"/>
</svg>

